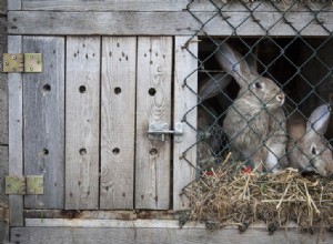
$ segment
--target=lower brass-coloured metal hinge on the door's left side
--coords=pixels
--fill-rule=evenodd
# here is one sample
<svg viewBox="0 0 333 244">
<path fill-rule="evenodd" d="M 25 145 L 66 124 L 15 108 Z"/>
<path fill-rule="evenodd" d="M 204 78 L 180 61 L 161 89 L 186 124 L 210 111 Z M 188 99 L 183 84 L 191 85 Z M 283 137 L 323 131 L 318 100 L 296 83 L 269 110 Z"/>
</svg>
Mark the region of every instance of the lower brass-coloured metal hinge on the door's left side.
<svg viewBox="0 0 333 244">
<path fill-rule="evenodd" d="M 6 194 L 42 195 L 44 194 L 43 175 L 6 176 Z"/>
</svg>

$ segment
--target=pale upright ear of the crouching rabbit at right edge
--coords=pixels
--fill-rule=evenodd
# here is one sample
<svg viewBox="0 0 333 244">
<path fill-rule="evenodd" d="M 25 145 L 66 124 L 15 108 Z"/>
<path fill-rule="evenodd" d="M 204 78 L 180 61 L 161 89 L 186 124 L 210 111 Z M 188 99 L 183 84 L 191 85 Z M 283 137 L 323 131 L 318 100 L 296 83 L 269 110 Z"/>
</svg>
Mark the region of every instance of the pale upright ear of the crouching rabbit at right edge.
<svg viewBox="0 0 333 244">
<path fill-rule="evenodd" d="M 331 109 L 327 104 L 316 108 L 306 123 L 306 132 L 315 131 L 320 135 L 324 135 L 330 121 Z"/>
</svg>

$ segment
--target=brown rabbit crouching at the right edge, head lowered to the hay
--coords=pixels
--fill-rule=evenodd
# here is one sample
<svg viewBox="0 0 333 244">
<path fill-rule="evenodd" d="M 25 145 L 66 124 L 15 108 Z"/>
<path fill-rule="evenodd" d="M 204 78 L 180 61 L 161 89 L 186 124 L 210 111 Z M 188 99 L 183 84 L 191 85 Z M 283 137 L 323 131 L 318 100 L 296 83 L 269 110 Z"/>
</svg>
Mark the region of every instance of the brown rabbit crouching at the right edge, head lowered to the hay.
<svg viewBox="0 0 333 244">
<path fill-rule="evenodd" d="M 301 172 L 316 172 L 322 176 L 333 174 L 332 146 L 324 139 L 330 121 L 327 104 L 316 108 L 306 122 L 301 115 L 287 121 L 287 157 L 290 166 Z"/>
</svg>

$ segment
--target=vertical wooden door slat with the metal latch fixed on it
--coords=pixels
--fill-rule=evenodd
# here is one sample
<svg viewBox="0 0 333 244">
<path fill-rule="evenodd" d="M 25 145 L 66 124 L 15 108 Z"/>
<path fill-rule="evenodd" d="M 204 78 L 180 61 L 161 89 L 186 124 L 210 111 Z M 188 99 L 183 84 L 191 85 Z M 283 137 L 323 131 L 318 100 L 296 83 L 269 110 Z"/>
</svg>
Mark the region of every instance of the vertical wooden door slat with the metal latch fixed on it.
<svg viewBox="0 0 333 244">
<path fill-rule="evenodd" d="M 148 125 L 171 123 L 171 68 L 172 38 L 138 39 L 135 209 L 170 207 L 170 139 L 149 140 Z"/>
</svg>

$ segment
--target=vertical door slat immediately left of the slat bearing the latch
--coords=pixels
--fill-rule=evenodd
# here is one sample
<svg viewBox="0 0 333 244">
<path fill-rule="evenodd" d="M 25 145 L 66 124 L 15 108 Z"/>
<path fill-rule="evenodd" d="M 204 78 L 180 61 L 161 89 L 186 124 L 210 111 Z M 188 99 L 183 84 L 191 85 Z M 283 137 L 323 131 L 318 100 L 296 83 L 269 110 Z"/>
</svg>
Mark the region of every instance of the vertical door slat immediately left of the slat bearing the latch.
<svg viewBox="0 0 333 244">
<path fill-rule="evenodd" d="M 102 39 L 100 207 L 133 209 L 137 38 Z"/>
</svg>

